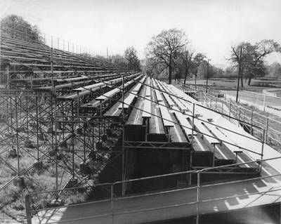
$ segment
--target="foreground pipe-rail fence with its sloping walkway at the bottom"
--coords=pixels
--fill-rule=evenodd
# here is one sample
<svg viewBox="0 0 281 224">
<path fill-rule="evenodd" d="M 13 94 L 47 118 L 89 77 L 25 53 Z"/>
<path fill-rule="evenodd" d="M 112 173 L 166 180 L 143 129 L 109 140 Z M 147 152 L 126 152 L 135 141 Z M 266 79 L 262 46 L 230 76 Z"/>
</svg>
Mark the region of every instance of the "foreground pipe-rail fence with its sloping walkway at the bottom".
<svg viewBox="0 0 281 224">
<path fill-rule="evenodd" d="M 273 159 L 281 159 L 281 157 L 276 157 Z M 273 159 L 259 159 L 254 162 L 244 162 L 240 164 L 235 164 L 235 166 L 240 166 L 244 164 L 259 164 L 261 165 L 262 162 L 266 162 Z M 263 180 L 264 183 L 274 183 L 276 182 L 275 179 L 279 178 L 281 174 L 276 175 L 270 175 L 270 176 L 261 176 L 256 178 L 250 178 L 246 180 L 233 180 L 228 181 L 225 183 L 215 183 L 215 184 L 208 184 L 201 182 L 202 176 L 208 175 L 209 173 L 216 173 L 213 172 L 213 169 L 218 168 L 226 168 L 231 167 L 233 165 L 226 165 L 226 166 L 217 166 L 217 167 L 211 167 L 206 169 L 200 169 L 197 171 L 184 171 L 180 173 L 169 173 L 165 175 L 159 175 L 159 176 L 150 176 L 145 178 L 138 178 L 138 179 L 132 179 L 132 180 L 124 180 L 119 181 L 115 183 L 103 183 L 99 185 L 95 185 L 93 187 L 76 187 L 76 188 L 70 188 L 65 190 L 53 190 L 53 191 L 47 191 L 47 192 L 33 192 L 30 195 L 26 195 L 25 197 L 25 204 L 26 204 L 26 211 L 27 211 L 27 223 L 32 223 L 32 215 L 37 216 L 39 219 L 49 218 L 48 223 L 70 223 L 72 221 L 83 221 L 83 220 L 99 220 L 100 218 L 106 219 L 107 223 L 118 223 L 120 218 L 128 218 L 128 216 L 132 215 L 134 218 L 143 218 L 145 221 L 145 218 L 147 217 L 153 217 L 152 215 L 157 213 L 157 218 L 161 218 L 161 214 L 164 214 L 164 217 L 166 219 L 173 218 L 174 213 L 177 213 L 179 216 L 182 217 L 188 217 L 188 216 L 196 216 L 196 223 L 200 223 L 200 213 L 209 213 L 214 212 L 214 204 L 216 202 L 232 202 L 233 200 L 237 199 L 249 199 L 251 195 L 257 195 L 261 197 L 261 195 L 266 195 L 267 192 L 277 192 L 280 191 L 280 188 L 275 189 L 271 185 L 268 186 L 268 188 L 263 187 L 263 191 L 259 190 L 251 190 L 248 192 L 244 192 L 244 189 L 253 189 L 252 185 L 257 185 L 259 181 Z M 193 176 L 193 179 L 195 181 L 193 182 L 193 185 L 190 185 L 190 187 L 182 187 L 182 188 L 173 188 L 173 189 L 167 189 L 162 190 L 161 192 L 146 192 L 145 194 L 139 194 L 139 195 L 126 195 L 126 197 L 120 197 L 121 191 L 120 186 L 121 185 L 134 185 L 135 183 L 139 183 L 141 185 L 147 185 L 150 180 L 157 180 L 163 181 L 166 183 L 171 183 L 171 180 L 178 179 L 178 178 L 185 178 L 187 176 Z M 168 178 L 168 179 L 167 179 Z M 277 182 L 276 182 L 277 183 Z M 261 183 L 260 183 L 261 184 Z M 229 187 L 233 187 L 233 191 L 228 191 Z M 216 191 L 217 190 L 217 191 Z M 225 191 L 226 190 L 226 191 Z M 86 202 L 86 199 L 84 202 L 79 204 L 74 204 L 71 202 L 71 197 L 73 195 L 73 192 L 96 192 L 97 199 L 92 202 Z M 210 193 L 210 191 L 212 193 Z M 101 193 L 103 192 L 103 193 Z M 181 194 L 183 192 L 183 194 Z M 216 192 L 216 193 L 214 193 Z M 181 197 L 177 200 L 169 201 L 169 199 L 174 197 L 174 194 L 181 194 Z M 36 206 L 38 204 L 41 195 L 48 195 L 48 201 L 53 200 L 53 206 L 51 208 L 39 208 Z M 278 193 L 277 193 L 278 194 Z M 280 194 L 280 192 L 279 192 Z M 64 198 L 68 204 L 60 203 L 60 200 L 58 199 L 58 195 L 60 198 Z M 103 195 L 103 197 L 102 197 Z M 165 196 L 167 202 L 163 199 L 163 196 Z M 185 196 L 185 197 L 184 197 Z M 133 201 L 133 204 L 136 204 L 138 202 L 142 204 L 138 204 L 137 208 L 133 206 L 133 204 L 130 204 L 131 206 L 124 206 L 126 204 L 129 204 L 129 202 Z M 156 202 L 156 203 L 155 203 Z M 98 206 L 100 204 L 103 204 L 103 209 L 100 209 L 98 211 Z M 206 204 L 212 204 L 211 210 L 208 210 Z M 52 219 L 50 216 L 53 215 L 53 213 L 58 212 L 58 209 L 65 209 L 65 208 L 73 208 L 76 206 L 93 206 L 92 209 L 89 209 L 91 212 L 83 214 L 79 214 L 80 217 L 77 217 L 77 213 L 73 214 L 73 218 L 65 218 L 64 220 L 55 220 Z M 96 206 L 96 207 L 95 207 Z M 95 209 L 96 210 L 95 210 Z M 179 209 L 181 208 L 181 209 Z M 182 209 L 183 208 L 183 209 Z M 48 211 L 51 211 L 49 213 L 50 216 L 44 216 L 42 211 L 48 213 Z M 86 211 L 86 209 L 85 209 Z M 181 213 L 178 213 L 181 211 Z M 144 213 L 146 213 L 144 215 Z M 141 216 L 138 216 L 140 215 Z M 82 217 L 81 217 L 82 215 Z M 148 215 L 148 216 L 146 216 Z M 110 221 L 108 221 L 110 220 Z"/>
</svg>

